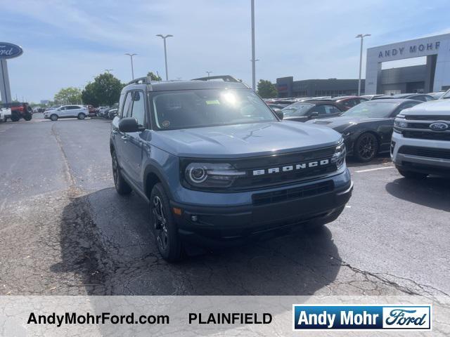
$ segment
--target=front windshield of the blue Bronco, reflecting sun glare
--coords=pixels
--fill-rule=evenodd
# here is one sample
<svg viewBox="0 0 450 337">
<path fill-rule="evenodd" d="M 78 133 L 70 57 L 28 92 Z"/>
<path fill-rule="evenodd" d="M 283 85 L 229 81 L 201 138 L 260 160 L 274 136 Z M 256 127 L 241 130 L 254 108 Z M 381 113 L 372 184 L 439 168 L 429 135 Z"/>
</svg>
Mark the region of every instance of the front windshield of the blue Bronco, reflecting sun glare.
<svg viewBox="0 0 450 337">
<path fill-rule="evenodd" d="M 278 120 L 250 89 L 162 91 L 151 104 L 158 130 Z"/>
</svg>

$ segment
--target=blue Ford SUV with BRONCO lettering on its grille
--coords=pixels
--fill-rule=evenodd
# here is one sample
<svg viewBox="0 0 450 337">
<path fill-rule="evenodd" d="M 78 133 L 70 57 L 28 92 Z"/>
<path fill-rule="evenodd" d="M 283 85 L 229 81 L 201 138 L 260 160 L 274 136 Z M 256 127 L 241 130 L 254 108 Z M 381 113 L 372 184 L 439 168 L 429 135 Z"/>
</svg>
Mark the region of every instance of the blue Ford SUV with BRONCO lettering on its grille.
<svg viewBox="0 0 450 337">
<path fill-rule="evenodd" d="M 283 121 L 248 86 L 131 81 L 120 94 L 110 152 L 115 188 L 150 205 L 165 260 L 184 246 L 224 246 L 338 218 L 352 193 L 340 133 Z"/>
</svg>

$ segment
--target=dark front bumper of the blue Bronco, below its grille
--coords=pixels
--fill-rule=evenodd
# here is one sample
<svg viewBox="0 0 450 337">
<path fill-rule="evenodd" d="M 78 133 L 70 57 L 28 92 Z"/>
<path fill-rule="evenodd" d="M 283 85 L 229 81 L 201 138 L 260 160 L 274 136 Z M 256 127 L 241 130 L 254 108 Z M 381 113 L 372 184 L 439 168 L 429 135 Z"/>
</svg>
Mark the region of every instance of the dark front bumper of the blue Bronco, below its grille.
<svg viewBox="0 0 450 337">
<path fill-rule="evenodd" d="M 203 246 L 228 246 L 310 221 L 327 223 L 334 220 L 333 214 L 342 211 L 352 190 L 353 183 L 349 180 L 342 187 L 333 187 L 311 197 L 263 205 L 191 206 L 171 202 L 171 206 L 181 209 L 181 215 L 174 214 L 174 220 L 184 241 Z"/>
</svg>

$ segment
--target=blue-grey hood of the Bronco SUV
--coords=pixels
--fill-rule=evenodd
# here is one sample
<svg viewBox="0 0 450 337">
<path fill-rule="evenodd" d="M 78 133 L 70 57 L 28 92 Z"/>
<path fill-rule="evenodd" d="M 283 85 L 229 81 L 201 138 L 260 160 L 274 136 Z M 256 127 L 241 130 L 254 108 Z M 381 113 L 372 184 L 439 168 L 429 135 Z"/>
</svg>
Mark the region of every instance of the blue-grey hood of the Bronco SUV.
<svg viewBox="0 0 450 337">
<path fill-rule="evenodd" d="M 156 131 L 151 143 L 179 157 L 237 158 L 331 146 L 341 137 L 329 128 L 273 121 Z"/>
</svg>

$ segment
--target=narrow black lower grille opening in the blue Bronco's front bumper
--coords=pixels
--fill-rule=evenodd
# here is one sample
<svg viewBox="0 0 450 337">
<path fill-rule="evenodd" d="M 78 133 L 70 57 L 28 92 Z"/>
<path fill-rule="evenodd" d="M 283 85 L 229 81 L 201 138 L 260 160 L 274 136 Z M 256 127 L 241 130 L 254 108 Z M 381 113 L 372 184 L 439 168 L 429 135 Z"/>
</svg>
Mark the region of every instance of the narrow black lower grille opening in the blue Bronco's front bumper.
<svg viewBox="0 0 450 337">
<path fill-rule="evenodd" d="M 276 202 L 314 197 L 315 195 L 333 191 L 333 181 L 325 181 L 312 185 L 288 188 L 286 190 L 255 193 L 252 195 L 252 201 L 255 206 L 274 204 Z"/>
</svg>

